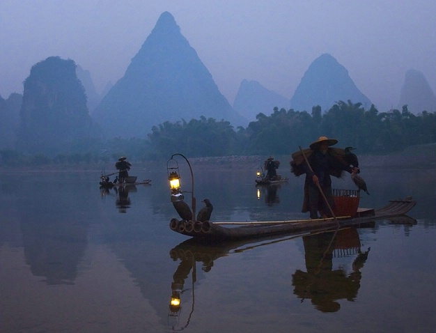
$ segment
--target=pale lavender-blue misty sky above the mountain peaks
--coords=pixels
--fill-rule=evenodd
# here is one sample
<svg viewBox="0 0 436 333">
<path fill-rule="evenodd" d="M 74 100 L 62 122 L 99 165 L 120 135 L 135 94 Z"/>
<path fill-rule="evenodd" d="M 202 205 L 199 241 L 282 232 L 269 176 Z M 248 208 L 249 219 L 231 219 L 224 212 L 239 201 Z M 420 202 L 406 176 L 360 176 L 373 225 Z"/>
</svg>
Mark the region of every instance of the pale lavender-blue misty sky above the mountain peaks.
<svg viewBox="0 0 436 333">
<path fill-rule="evenodd" d="M 433 0 L 0 0 L 0 95 L 22 93 L 31 66 L 48 56 L 74 60 L 102 91 L 164 11 L 231 104 L 242 79 L 291 98 L 323 53 L 379 111 L 398 106 L 409 69 L 436 91 Z"/>
</svg>

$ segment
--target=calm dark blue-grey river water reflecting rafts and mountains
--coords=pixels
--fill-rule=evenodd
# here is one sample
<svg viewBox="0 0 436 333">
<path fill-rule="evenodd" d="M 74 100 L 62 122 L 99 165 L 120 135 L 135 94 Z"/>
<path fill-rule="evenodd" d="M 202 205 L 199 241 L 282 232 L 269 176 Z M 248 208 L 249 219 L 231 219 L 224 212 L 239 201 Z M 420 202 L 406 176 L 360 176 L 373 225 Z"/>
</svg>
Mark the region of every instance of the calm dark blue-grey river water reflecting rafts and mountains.
<svg viewBox="0 0 436 333">
<path fill-rule="evenodd" d="M 307 217 L 288 162 L 274 188 L 255 186 L 253 163 L 193 164 L 197 211 L 208 198 L 212 221 Z M 100 171 L 3 172 L 0 332 L 434 332 L 435 171 L 361 168 L 360 206 L 412 195 L 410 219 L 209 247 L 169 229 L 165 162 L 133 166 L 151 185 L 108 192 Z M 334 187 L 353 189 L 349 178 Z"/>
</svg>

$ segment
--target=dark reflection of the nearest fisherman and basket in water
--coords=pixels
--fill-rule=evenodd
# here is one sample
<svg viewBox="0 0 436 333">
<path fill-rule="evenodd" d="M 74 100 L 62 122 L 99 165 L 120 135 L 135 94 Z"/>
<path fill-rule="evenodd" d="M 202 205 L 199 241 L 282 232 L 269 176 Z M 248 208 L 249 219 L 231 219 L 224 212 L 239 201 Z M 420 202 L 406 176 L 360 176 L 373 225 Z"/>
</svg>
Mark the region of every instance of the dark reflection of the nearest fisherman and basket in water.
<svg viewBox="0 0 436 333">
<path fill-rule="evenodd" d="M 294 293 L 298 297 L 311 299 L 312 304 L 322 312 L 340 309 L 337 300 L 355 300 L 360 288 L 361 269 L 368 251 L 360 252 L 359 234 L 356 229 L 344 229 L 337 233 L 321 233 L 303 237 L 306 270 L 293 274 Z M 334 254 L 345 256 L 358 254 L 353 271 L 333 269 Z"/>
</svg>

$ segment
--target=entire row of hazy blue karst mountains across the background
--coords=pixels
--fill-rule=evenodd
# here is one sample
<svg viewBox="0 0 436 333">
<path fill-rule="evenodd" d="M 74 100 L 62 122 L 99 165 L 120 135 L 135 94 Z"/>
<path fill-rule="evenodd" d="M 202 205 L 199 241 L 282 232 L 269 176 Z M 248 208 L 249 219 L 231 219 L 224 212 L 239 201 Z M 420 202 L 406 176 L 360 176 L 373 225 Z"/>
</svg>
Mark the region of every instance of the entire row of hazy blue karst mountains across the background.
<svg viewBox="0 0 436 333">
<path fill-rule="evenodd" d="M 13 148 L 17 139 L 29 151 L 37 146 L 63 147 L 100 134 L 95 123 L 107 138 L 146 137 L 155 125 L 201 116 L 247 127 L 258 114 L 272 114 L 274 107 L 310 113 L 316 105 L 327 111 L 339 100 L 371 107 L 348 70 L 330 54 L 322 54 L 306 70 L 292 98 L 244 79 L 232 107 L 173 16 L 165 12 L 125 75 L 113 86 L 108 84 L 101 95 L 91 73 L 72 60 L 53 56 L 34 65 L 24 82 L 24 95 L 11 94 L 7 100 L 0 96 L 0 149 Z M 406 72 L 398 109 L 405 104 L 414 114 L 436 111 L 435 93 L 422 72 Z"/>
</svg>

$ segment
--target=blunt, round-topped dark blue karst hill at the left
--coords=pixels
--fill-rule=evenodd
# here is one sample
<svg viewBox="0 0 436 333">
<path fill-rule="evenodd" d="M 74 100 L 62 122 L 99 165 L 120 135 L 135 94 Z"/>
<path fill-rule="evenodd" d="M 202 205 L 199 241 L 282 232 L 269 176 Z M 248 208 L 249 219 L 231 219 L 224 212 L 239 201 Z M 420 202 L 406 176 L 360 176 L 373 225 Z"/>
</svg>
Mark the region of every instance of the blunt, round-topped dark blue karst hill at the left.
<svg viewBox="0 0 436 333">
<path fill-rule="evenodd" d="M 17 140 L 21 150 L 56 153 L 97 134 L 86 107 L 76 64 L 50 56 L 33 65 L 24 81 Z"/>
</svg>

